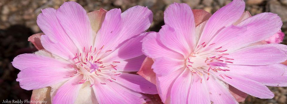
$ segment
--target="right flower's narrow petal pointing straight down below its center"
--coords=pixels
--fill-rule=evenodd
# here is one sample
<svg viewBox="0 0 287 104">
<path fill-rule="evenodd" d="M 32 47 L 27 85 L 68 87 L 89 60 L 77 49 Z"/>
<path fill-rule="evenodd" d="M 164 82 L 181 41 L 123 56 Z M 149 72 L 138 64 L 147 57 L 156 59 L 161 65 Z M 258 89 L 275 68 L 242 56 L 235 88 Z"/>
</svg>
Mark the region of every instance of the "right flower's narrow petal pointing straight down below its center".
<svg viewBox="0 0 287 104">
<path fill-rule="evenodd" d="M 190 75 L 190 72 L 187 72 L 187 74 Z M 192 76 L 192 80 L 188 79 L 187 81 L 192 81 L 191 85 L 190 85 L 191 87 L 189 89 L 189 94 L 187 97 L 188 103 L 189 104 L 209 104 L 210 100 L 212 98 L 210 98 L 210 96 L 209 96 L 207 86 L 212 86 L 212 85 L 206 84 L 207 81 L 205 81 L 204 78 L 201 79 L 201 77 L 197 74 L 194 74 Z M 187 81 L 182 82 L 182 83 L 188 83 L 189 84 L 189 82 L 187 82 Z M 217 103 L 215 103 L 215 104 L 217 104 Z M 218 104 L 230 104 L 230 103 L 218 103 Z"/>
</svg>

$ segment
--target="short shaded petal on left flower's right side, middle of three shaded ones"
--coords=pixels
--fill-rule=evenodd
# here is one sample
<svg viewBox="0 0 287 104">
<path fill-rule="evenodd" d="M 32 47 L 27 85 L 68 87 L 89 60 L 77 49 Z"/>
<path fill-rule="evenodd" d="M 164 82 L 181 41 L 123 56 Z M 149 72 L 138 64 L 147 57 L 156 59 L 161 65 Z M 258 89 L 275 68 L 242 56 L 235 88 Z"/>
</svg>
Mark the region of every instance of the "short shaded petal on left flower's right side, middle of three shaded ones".
<svg viewBox="0 0 287 104">
<path fill-rule="evenodd" d="M 145 55 L 141 55 L 132 59 L 123 60 L 120 63 L 113 63 L 117 65 L 117 70 L 122 72 L 137 72 L 141 68 L 141 64 L 146 58 Z"/>
</svg>

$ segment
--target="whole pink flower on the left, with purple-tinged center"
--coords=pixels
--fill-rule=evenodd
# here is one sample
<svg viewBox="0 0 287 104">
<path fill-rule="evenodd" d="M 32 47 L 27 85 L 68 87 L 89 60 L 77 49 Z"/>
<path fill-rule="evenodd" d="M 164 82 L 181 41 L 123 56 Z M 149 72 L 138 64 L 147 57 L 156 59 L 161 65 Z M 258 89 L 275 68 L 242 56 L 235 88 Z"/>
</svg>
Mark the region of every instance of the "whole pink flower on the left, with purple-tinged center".
<svg viewBox="0 0 287 104">
<path fill-rule="evenodd" d="M 146 57 L 140 41 L 151 22 L 152 12 L 141 6 L 88 15 L 76 2 L 44 9 L 37 24 L 45 35 L 29 38 L 44 49 L 14 58 L 21 70 L 17 81 L 26 90 L 51 86 L 55 104 L 145 103 L 149 99 L 142 93 L 157 94 L 156 87 L 130 72 Z"/>
</svg>

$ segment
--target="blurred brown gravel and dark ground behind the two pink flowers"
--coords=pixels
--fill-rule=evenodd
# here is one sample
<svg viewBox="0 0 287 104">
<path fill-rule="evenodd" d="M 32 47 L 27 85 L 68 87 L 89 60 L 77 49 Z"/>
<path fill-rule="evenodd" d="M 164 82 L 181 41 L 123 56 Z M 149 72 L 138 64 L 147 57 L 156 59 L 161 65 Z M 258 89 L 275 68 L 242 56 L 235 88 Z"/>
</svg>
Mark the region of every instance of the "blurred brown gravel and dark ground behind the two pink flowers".
<svg viewBox="0 0 287 104">
<path fill-rule="evenodd" d="M 32 34 L 41 30 L 36 18 L 41 9 L 59 6 L 68 0 L 0 0 L 0 103 L 3 100 L 30 100 L 32 91 L 21 89 L 16 82 L 19 70 L 11 64 L 13 58 L 22 53 L 33 53 L 36 48 L 27 41 Z M 159 31 L 165 8 L 173 3 L 187 3 L 192 9 L 203 9 L 214 13 L 231 0 L 71 0 L 81 4 L 87 12 L 103 8 L 110 10 L 121 8 L 122 11 L 135 5 L 147 6 L 154 18 L 148 31 Z M 261 12 L 278 14 L 283 21 L 282 31 L 287 34 L 287 0 L 245 0 L 251 15 Z M 286 44 L 286 38 L 283 44 Z M 269 87 L 275 93 L 273 99 L 259 99 L 248 96 L 240 104 L 287 104 L 287 87 Z"/>
</svg>

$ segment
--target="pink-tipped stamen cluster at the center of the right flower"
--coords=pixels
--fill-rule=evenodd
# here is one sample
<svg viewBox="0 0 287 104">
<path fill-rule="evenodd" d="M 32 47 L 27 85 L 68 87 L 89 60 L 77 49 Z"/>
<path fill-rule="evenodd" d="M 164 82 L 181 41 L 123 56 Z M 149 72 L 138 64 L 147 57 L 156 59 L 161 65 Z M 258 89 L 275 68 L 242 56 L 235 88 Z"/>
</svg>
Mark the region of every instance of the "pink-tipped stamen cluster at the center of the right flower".
<svg viewBox="0 0 287 104">
<path fill-rule="evenodd" d="M 222 49 L 222 46 L 211 49 L 211 45 L 215 45 L 215 43 L 207 45 L 205 44 L 205 42 L 203 42 L 201 45 L 197 45 L 196 49 L 186 59 L 187 68 L 191 70 L 190 72 L 192 75 L 197 74 L 201 76 L 201 83 L 204 74 L 207 75 L 206 80 L 208 81 L 210 78 L 210 74 L 217 73 L 218 71 L 230 71 L 228 69 L 225 69 L 225 67 L 229 68 L 228 64 L 233 64 L 231 60 L 234 59 L 227 57 L 229 53 L 224 53 L 227 51 L 227 49 Z M 202 50 L 204 51 L 201 52 Z M 210 73 L 210 71 L 213 71 L 213 73 Z M 219 74 L 219 76 L 222 78 L 232 79 L 225 74 Z"/>
</svg>

